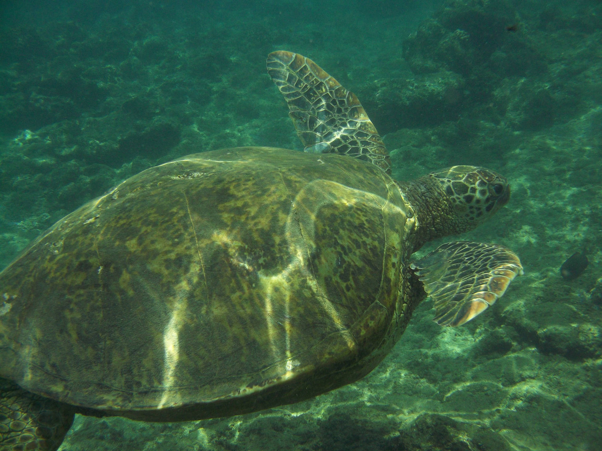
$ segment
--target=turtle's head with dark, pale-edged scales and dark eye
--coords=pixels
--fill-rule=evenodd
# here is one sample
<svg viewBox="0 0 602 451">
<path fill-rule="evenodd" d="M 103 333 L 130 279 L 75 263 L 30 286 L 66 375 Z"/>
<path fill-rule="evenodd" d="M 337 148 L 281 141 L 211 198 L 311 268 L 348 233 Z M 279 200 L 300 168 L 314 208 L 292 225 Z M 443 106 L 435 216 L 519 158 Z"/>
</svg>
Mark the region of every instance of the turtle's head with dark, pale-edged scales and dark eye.
<svg viewBox="0 0 602 451">
<path fill-rule="evenodd" d="M 452 233 L 474 229 L 510 199 L 506 177 L 485 168 L 452 166 L 429 176 L 438 180 L 447 194 L 458 227 L 451 230 Z"/>
</svg>

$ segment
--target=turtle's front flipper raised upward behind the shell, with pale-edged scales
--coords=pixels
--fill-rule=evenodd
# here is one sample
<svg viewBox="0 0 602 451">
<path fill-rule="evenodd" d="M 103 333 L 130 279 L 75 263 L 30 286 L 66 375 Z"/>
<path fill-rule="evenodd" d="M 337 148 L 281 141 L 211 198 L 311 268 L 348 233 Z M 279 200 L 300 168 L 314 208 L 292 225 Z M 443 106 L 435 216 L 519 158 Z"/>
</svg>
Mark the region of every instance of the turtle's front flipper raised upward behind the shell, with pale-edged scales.
<svg viewBox="0 0 602 451">
<path fill-rule="evenodd" d="M 287 100 L 305 152 L 340 153 L 391 173 L 391 160 L 358 97 L 309 58 L 272 52 L 267 72 Z"/>
</svg>

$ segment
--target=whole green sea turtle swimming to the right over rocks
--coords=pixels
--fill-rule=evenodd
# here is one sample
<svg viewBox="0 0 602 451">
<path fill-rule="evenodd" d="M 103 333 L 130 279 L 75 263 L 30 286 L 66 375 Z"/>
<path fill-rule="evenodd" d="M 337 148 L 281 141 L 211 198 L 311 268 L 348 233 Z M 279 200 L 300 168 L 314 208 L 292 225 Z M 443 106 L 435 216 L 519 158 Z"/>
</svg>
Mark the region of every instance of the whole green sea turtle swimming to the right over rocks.
<svg viewBox="0 0 602 451">
<path fill-rule="evenodd" d="M 205 419 L 370 372 L 430 294 L 459 325 L 522 272 L 473 229 L 504 177 L 411 182 L 357 97 L 301 55 L 270 76 L 306 152 L 244 147 L 150 168 L 58 221 L 0 274 L 0 450 L 55 450 L 75 413 Z"/>
</svg>

